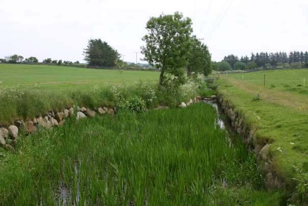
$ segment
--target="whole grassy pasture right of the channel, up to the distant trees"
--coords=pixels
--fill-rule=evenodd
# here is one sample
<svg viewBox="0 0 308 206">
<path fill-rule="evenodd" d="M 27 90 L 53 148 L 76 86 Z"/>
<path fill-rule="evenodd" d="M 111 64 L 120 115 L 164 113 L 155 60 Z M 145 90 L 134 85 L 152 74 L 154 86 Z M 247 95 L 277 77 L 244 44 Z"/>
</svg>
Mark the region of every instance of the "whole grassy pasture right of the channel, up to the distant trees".
<svg viewBox="0 0 308 206">
<path fill-rule="evenodd" d="M 226 74 L 220 75 L 219 91 L 257 129 L 256 136 L 273 141 L 276 171 L 307 200 L 308 87 L 303 78 L 307 80 L 308 70 Z"/>
</svg>

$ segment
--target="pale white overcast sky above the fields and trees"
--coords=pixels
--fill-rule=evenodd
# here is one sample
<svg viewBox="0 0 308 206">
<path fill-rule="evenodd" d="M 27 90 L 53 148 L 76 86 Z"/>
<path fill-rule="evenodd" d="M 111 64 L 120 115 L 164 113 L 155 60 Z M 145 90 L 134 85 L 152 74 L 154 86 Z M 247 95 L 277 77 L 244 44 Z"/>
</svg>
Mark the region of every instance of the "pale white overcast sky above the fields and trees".
<svg viewBox="0 0 308 206">
<path fill-rule="evenodd" d="M 136 61 L 149 17 L 175 11 L 192 18 L 216 61 L 231 53 L 308 50 L 307 0 L 9 0 L 0 3 L 0 58 L 82 62 L 88 39 L 101 38 Z"/>
</svg>

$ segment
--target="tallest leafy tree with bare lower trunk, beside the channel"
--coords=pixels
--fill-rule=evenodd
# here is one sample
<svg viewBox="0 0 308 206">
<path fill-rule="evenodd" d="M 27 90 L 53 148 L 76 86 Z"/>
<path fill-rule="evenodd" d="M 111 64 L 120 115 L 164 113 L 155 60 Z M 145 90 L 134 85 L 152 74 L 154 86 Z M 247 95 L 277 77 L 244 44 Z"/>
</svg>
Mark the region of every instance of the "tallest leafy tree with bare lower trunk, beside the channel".
<svg viewBox="0 0 308 206">
<path fill-rule="evenodd" d="M 183 77 L 183 67 L 188 61 L 191 25 L 191 19 L 184 18 L 179 12 L 173 15 L 161 14 L 148 20 L 148 34 L 142 38 L 146 45 L 141 47 L 141 53 L 150 65 L 160 68 L 160 85 L 165 74 L 174 75 L 178 79 Z"/>
</svg>

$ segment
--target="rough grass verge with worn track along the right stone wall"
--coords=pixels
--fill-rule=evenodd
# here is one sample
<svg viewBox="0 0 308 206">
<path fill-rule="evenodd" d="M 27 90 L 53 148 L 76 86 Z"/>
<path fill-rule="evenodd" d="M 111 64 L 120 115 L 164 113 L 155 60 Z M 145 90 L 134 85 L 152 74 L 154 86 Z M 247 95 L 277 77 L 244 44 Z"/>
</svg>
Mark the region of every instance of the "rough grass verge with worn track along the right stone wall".
<svg viewBox="0 0 308 206">
<path fill-rule="evenodd" d="M 302 72 L 305 71 L 299 71 L 300 74 Z M 282 87 L 263 87 L 253 83 L 255 80 L 249 80 L 249 77 L 258 74 L 245 74 L 244 80 L 237 79 L 235 75 L 223 75 L 219 80 L 219 93 L 256 129 L 255 138 L 270 139 L 270 155 L 275 171 L 286 180 L 288 189 L 295 191 L 293 198 L 306 202 L 308 114 L 305 107 L 298 105 L 308 99 L 283 91 Z"/>
</svg>

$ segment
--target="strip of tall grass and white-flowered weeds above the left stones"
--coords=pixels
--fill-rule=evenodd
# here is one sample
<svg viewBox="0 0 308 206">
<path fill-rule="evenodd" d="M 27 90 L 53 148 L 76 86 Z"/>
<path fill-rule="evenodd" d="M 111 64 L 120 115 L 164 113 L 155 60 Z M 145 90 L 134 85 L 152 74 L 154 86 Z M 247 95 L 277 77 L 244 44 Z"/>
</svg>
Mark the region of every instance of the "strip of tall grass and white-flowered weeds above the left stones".
<svg viewBox="0 0 308 206">
<path fill-rule="evenodd" d="M 156 83 L 132 82 L 115 86 L 88 86 L 87 89 L 36 90 L 0 87 L 0 123 L 11 124 L 15 119 L 34 118 L 47 111 L 59 111 L 78 105 L 96 109 L 119 106 L 123 102 L 141 102 L 151 109 L 159 105 L 176 107 L 196 97 L 197 84 L 188 82 L 180 87 L 160 89 Z"/>
</svg>

